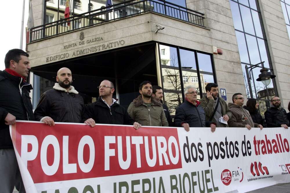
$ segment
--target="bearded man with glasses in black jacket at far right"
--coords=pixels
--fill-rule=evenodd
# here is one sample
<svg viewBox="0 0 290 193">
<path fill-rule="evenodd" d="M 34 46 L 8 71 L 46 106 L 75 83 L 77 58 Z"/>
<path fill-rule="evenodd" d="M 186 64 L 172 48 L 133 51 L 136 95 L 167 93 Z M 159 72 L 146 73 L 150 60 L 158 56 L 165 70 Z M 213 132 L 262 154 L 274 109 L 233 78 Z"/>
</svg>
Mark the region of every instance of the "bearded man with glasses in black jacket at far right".
<svg viewBox="0 0 290 193">
<path fill-rule="evenodd" d="M 271 99 L 270 108 L 264 113 L 267 127 L 284 127 L 288 129 L 289 120 L 287 112 L 281 107 L 280 98 L 275 96 Z"/>
</svg>

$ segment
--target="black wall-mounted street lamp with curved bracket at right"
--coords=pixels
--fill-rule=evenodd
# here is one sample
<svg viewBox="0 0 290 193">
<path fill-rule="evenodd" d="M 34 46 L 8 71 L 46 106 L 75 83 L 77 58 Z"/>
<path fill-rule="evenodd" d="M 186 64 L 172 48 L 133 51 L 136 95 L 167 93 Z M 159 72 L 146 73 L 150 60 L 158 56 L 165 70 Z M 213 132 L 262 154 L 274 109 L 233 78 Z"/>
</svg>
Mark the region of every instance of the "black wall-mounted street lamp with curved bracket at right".
<svg viewBox="0 0 290 193">
<path fill-rule="evenodd" d="M 273 75 L 271 72 L 268 72 L 269 68 L 265 68 L 264 67 L 264 62 L 265 61 L 260 62 L 258 64 L 255 64 L 253 66 L 249 66 L 249 67 L 245 66 L 245 67 L 246 67 L 246 73 L 247 73 L 247 79 L 248 79 L 248 84 L 249 84 L 249 90 L 250 90 L 251 98 L 253 98 L 253 92 L 252 92 L 252 87 L 251 87 L 251 80 L 252 80 L 251 71 L 254 68 L 260 67 L 258 65 L 262 64 L 262 69 L 260 70 L 261 74 L 259 74 L 259 78 L 257 78 L 256 80 L 257 81 L 261 81 L 266 86 L 267 99 L 269 100 L 269 93 L 268 93 L 267 86 L 269 86 L 269 84 L 271 83 L 271 79 L 275 78 L 276 75 Z M 248 69 L 250 69 L 250 72 L 248 71 Z M 255 89 L 255 94 L 256 94 L 256 97 L 257 97 L 257 91 L 256 91 L 256 88 L 255 88 L 255 83 L 254 83 L 254 89 Z"/>
</svg>

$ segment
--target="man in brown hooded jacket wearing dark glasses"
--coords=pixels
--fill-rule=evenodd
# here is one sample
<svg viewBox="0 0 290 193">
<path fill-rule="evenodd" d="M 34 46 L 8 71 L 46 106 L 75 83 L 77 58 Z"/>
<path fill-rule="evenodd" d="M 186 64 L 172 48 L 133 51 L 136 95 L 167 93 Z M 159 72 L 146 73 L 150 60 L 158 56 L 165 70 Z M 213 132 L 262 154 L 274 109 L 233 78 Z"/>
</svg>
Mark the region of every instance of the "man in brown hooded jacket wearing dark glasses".
<svg viewBox="0 0 290 193">
<path fill-rule="evenodd" d="M 228 121 L 229 127 L 246 127 L 249 130 L 252 127 L 263 129 L 262 125 L 253 122 L 249 111 L 244 109 L 244 97 L 241 93 L 235 93 L 232 100 L 233 103 L 229 102 L 229 108 L 232 112 L 232 117 Z"/>
</svg>

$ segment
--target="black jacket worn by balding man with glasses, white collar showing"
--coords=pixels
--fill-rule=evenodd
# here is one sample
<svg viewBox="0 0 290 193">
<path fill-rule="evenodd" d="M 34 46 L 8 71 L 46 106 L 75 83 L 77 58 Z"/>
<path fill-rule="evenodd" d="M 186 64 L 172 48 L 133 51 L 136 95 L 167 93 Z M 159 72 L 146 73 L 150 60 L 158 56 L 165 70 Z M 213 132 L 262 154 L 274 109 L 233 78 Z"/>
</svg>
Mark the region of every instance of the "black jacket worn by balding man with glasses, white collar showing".
<svg viewBox="0 0 290 193">
<path fill-rule="evenodd" d="M 99 124 L 133 125 L 134 123 L 124 107 L 115 102 L 109 108 L 101 97 L 86 106 L 83 122 L 89 118 Z"/>
</svg>

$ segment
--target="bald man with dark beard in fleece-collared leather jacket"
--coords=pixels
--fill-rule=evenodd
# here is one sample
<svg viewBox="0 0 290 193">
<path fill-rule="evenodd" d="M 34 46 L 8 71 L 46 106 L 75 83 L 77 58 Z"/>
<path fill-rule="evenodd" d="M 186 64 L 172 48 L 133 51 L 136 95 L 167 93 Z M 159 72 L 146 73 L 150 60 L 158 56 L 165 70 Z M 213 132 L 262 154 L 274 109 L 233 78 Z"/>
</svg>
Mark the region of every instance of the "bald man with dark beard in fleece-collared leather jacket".
<svg viewBox="0 0 290 193">
<path fill-rule="evenodd" d="M 34 111 L 35 119 L 49 126 L 55 125 L 55 122 L 81 123 L 85 110 L 84 99 L 71 86 L 73 76 L 70 69 L 60 68 L 56 81 L 58 83 L 55 83 L 53 89 L 40 96 Z"/>
</svg>

